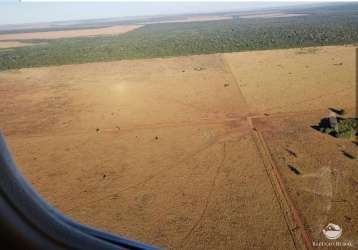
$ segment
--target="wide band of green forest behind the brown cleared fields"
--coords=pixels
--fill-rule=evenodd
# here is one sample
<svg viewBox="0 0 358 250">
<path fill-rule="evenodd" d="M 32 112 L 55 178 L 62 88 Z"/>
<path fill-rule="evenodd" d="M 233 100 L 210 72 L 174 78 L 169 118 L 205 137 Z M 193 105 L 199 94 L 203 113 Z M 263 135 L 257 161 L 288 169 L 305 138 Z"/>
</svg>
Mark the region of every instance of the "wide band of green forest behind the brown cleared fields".
<svg viewBox="0 0 358 250">
<path fill-rule="evenodd" d="M 271 18 L 236 15 L 229 20 L 147 24 L 112 36 L 52 40 L 34 37 L 28 42 L 47 43 L 0 49 L 0 70 L 358 42 L 357 4 L 286 14 L 280 17 L 271 14 Z"/>
</svg>

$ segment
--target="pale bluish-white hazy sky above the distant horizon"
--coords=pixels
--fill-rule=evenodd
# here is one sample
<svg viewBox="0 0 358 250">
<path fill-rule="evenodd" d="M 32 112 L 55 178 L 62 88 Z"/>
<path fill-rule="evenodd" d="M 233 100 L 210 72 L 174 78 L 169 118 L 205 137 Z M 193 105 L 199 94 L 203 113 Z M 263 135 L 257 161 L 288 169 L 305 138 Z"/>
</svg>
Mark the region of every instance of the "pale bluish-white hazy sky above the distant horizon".
<svg viewBox="0 0 358 250">
<path fill-rule="evenodd" d="M 326 4 L 332 4 L 327 2 Z M 143 3 L 71 3 L 71 2 L 56 2 L 56 3 L 39 3 L 39 2 L 0 2 L 0 5 L 7 5 L 8 8 L 1 8 L 0 10 L 0 26 L 21 26 L 21 25 L 35 25 L 35 24 L 51 24 L 51 23 L 66 23 L 66 22 L 81 22 L 81 21 L 95 21 L 95 20 L 135 20 L 138 18 L 151 18 L 151 17 L 166 17 L 166 16 L 181 16 L 181 15 L 200 15 L 200 14 L 225 14 L 230 12 L 249 12 L 249 11 L 263 11 L 282 9 L 287 7 L 303 6 L 303 5 L 318 5 L 325 3 L 305 2 L 305 3 L 292 3 L 292 2 L 191 2 L 191 3 L 159 3 L 159 2 L 143 2 Z M 39 7 L 41 9 L 34 8 Z M 159 6 L 161 5 L 161 6 Z M 165 5 L 165 6 L 163 6 Z M 176 6 L 174 6 L 176 5 Z M 220 6 L 223 6 L 220 8 Z M 239 6 L 240 5 L 240 6 Z M 245 6 L 244 6 L 245 5 Z M 118 13 L 114 13 L 112 7 L 118 8 Z M 143 7 L 148 7 L 148 9 Z M 61 8 L 62 9 L 61 9 Z M 98 9 L 105 10 L 107 8 L 108 14 L 98 14 Z M 174 8 L 173 8 L 174 7 Z M 178 8 L 175 8 L 178 7 Z M 236 7 L 236 8 L 233 8 Z M 82 13 L 77 13 L 82 9 Z M 86 9 L 87 8 L 87 9 Z M 121 11 L 121 8 L 123 9 Z M 127 11 L 132 8 L 131 11 Z M 215 8 L 218 8 L 215 10 Z M 55 15 L 50 15 L 50 10 L 56 10 Z M 30 13 L 28 12 L 30 11 Z M 62 11 L 62 13 L 61 13 Z M 67 12 L 66 12 L 67 11 Z M 86 12 L 87 13 L 83 13 Z M 138 13 L 135 13 L 137 11 Z M 4 12 L 4 13 L 2 13 Z M 33 17 L 31 16 L 33 13 Z M 123 14 L 124 13 L 124 14 Z M 16 15 L 18 14 L 18 15 Z M 23 14 L 23 15 L 21 15 Z M 37 14 L 37 15 L 36 15 Z M 42 17 L 41 17 L 42 14 Z M 40 15 L 40 16 L 39 16 Z M 68 15 L 68 16 L 67 16 Z M 91 16 L 92 15 L 92 16 Z M 33 19 L 33 20 L 31 20 Z"/>
</svg>

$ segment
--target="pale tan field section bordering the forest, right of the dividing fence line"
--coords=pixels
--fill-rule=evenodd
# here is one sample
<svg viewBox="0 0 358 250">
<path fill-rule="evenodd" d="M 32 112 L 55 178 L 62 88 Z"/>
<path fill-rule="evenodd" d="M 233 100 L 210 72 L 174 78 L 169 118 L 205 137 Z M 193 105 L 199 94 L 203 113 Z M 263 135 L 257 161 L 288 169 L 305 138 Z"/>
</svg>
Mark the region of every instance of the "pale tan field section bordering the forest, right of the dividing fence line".
<svg viewBox="0 0 358 250">
<path fill-rule="evenodd" d="M 230 53 L 224 57 L 250 112 L 270 114 L 355 105 L 352 46 Z"/>
</svg>

